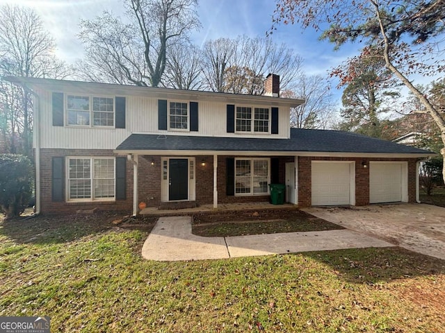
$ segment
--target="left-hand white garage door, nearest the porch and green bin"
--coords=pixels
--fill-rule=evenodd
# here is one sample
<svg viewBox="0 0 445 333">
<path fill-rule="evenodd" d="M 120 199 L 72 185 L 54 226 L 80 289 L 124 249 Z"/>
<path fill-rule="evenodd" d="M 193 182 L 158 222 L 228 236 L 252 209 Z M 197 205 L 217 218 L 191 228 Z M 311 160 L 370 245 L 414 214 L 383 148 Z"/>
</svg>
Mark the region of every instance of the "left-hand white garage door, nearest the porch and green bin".
<svg viewBox="0 0 445 333">
<path fill-rule="evenodd" d="M 350 163 L 312 162 L 312 205 L 352 205 Z"/>
</svg>

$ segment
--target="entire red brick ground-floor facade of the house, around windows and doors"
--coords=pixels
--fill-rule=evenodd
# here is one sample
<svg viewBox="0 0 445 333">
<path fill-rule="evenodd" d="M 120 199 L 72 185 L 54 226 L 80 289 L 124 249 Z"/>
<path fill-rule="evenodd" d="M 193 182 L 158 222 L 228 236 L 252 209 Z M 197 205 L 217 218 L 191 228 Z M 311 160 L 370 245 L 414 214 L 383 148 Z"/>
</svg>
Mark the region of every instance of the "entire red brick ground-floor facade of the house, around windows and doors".
<svg viewBox="0 0 445 333">
<path fill-rule="evenodd" d="M 127 199 L 94 202 L 53 202 L 51 200 L 51 159 L 54 156 L 113 156 L 108 150 L 72 150 L 42 149 L 40 177 L 41 212 L 60 213 L 76 212 L 98 207 L 100 210 L 128 210 L 133 207 L 133 164 L 127 162 Z M 226 158 L 218 156 L 218 203 L 250 203 L 268 201 L 269 196 L 227 196 L 226 194 Z M 362 161 L 369 165 L 370 161 L 389 161 L 389 159 L 337 158 L 337 157 L 298 157 L 298 205 L 312 204 L 311 163 L 312 160 L 355 161 L 355 196 L 356 205 L 369 204 L 369 168 L 362 167 Z M 154 165 L 152 165 L 152 161 Z M 293 162 L 294 157 L 280 157 L 279 180 L 285 183 L 285 164 Z M 408 200 L 416 199 L 416 159 L 408 161 Z M 202 162 L 205 163 L 202 166 Z M 161 204 L 162 165 L 160 156 L 140 156 L 138 160 L 138 201 L 145 202 L 147 207 L 158 207 Z M 198 205 L 213 203 L 213 156 L 195 157 L 195 187 Z"/>
</svg>

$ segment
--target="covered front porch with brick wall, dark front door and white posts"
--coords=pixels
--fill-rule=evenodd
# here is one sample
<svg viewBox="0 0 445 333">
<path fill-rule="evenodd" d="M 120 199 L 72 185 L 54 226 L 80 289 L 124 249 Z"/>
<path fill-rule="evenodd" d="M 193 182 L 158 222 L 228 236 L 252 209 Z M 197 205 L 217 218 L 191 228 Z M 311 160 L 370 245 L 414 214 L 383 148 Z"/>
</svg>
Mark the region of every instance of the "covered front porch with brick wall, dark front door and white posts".
<svg viewBox="0 0 445 333">
<path fill-rule="evenodd" d="M 233 153 L 169 151 L 167 155 L 149 151 L 127 155 L 133 164 L 133 215 L 274 208 L 269 203 L 268 184 L 284 182 L 284 202 L 290 203 L 289 207 L 297 203 L 298 157 Z"/>
</svg>

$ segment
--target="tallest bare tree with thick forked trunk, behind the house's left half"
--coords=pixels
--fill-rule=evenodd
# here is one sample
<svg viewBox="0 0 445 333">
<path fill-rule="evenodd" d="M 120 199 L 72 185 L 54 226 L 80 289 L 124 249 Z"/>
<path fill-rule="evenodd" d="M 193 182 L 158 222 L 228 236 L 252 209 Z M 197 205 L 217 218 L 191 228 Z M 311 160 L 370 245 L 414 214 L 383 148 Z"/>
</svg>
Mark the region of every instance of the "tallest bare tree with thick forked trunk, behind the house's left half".
<svg viewBox="0 0 445 333">
<path fill-rule="evenodd" d="M 86 48 L 83 62 L 95 71 L 82 75 L 90 80 L 157 87 L 168 50 L 200 27 L 197 0 L 125 0 L 125 6 L 129 23 L 107 11 L 81 22 L 79 37 Z"/>
</svg>

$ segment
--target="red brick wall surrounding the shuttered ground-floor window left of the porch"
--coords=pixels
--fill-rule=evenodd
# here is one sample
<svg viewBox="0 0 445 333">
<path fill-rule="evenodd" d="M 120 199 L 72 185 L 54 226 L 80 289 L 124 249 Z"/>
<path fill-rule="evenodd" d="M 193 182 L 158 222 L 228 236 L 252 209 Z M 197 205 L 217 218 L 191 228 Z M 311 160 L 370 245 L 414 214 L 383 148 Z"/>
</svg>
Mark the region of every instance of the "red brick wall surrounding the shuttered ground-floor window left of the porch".
<svg viewBox="0 0 445 333">
<path fill-rule="evenodd" d="M 40 212 L 42 214 L 75 213 L 77 210 L 128 210 L 133 207 L 133 164 L 127 162 L 127 199 L 91 202 L 53 202 L 51 200 L 52 157 L 56 156 L 115 156 L 111 150 L 42 149 L 40 153 Z M 65 161 L 66 162 L 66 161 Z M 65 166 L 66 167 L 66 166 Z M 65 175 L 66 177 L 66 175 Z"/>
</svg>

